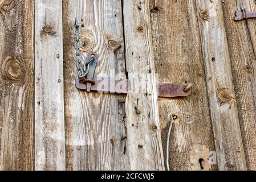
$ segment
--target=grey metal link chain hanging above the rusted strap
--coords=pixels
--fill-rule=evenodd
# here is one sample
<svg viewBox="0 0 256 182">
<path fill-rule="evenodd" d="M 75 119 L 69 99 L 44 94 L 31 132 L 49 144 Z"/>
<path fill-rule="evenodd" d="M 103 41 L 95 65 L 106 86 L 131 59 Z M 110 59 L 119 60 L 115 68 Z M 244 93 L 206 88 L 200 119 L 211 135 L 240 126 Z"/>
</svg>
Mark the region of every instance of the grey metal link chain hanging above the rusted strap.
<svg viewBox="0 0 256 182">
<path fill-rule="evenodd" d="M 76 37 L 74 46 L 75 46 L 75 50 L 76 50 L 75 63 L 76 63 L 76 68 L 78 69 L 78 71 L 77 71 L 78 77 L 85 78 L 89 72 L 89 66 L 92 63 L 92 61 L 94 61 L 95 57 L 92 57 L 90 61 L 84 61 L 82 53 L 79 50 L 82 46 L 82 42 L 79 39 L 79 34 L 81 33 L 81 27 L 79 26 L 78 18 L 75 18 L 75 25 L 73 28 L 73 32 Z"/>
</svg>

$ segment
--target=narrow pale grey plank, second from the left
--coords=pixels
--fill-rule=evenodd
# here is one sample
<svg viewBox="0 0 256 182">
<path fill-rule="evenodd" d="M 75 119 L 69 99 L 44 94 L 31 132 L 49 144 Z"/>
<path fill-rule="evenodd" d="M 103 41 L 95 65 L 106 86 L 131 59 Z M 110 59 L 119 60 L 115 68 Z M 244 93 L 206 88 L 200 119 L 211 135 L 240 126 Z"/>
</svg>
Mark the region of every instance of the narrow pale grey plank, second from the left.
<svg viewBox="0 0 256 182">
<path fill-rule="evenodd" d="M 65 169 L 62 1 L 35 1 L 35 169 Z"/>
</svg>

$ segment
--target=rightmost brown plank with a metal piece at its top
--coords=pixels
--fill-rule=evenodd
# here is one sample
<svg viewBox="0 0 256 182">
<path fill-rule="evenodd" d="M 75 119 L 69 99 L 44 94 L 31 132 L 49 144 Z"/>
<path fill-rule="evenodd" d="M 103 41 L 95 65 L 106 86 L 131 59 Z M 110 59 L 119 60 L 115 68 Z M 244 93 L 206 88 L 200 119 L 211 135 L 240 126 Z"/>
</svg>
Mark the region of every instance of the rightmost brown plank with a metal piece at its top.
<svg viewBox="0 0 256 182">
<path fill-rule="evenodd" d="M 231 70 L 247 169 L 256 169 L 256 23 L 255 19 L 234 21 L 235 10 L 256 11 L 254 1 L 227 0 L 223 3 Z"/>
</svg>

